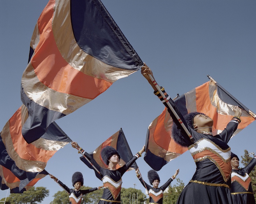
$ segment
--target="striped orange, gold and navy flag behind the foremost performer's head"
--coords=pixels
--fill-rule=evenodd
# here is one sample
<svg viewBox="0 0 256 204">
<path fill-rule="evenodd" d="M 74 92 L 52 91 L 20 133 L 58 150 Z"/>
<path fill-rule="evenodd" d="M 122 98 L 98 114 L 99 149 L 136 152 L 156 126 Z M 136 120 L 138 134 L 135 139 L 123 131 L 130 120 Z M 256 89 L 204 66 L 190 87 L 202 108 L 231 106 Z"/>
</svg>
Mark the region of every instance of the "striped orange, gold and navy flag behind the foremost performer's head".
<svg viewBox="0 0 256 204">
<path fill-rule="evenodd" d="M 229 94 L 213 79 L 194 88 L 182 96 L 174 99 L 181 114 L 185 116 L 191 112 L 201 112 L 213 119 L 213 135 L 221 133 L 233 117 L 232 106 L 242 108 L 241 123 L 233 136 L 253 122 L 256 115 L 241 102 Z M 146 153 L 144 160 L 156 171 L 172 159 L 180 156 L 186 147 L 175 143 L 172 139 L 172 118 L 165 108 L 163 112 L 149 125 L 146 136 Z"/>
</svg>

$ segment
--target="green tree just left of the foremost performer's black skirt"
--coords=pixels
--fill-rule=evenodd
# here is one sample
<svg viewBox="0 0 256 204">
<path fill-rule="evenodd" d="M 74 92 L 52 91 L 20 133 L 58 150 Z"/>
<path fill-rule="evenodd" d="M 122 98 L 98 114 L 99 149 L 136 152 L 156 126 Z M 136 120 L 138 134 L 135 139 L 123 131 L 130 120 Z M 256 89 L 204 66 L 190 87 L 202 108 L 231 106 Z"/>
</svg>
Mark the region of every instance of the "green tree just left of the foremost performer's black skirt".
<svg viewBox="0 0 256 204">
<path fill-rule="evenodd" d="M 175 204 L 184 188 L 184 183 L 177 178 L 177 184 L 169 186 L 168 192 L 163 193 L 163 204 Z"/>
</svg>

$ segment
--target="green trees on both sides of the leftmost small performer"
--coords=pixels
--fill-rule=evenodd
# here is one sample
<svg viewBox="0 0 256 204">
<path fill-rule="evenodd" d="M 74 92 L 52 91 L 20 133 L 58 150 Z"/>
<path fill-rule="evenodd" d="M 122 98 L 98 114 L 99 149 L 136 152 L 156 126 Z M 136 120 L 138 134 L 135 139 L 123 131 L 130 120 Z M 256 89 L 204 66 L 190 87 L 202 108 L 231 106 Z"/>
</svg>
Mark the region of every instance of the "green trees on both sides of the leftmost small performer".
<svg viewBox="0 0 256 204">
<path fill-rule="evenodd" d="M 89 189 L 91 187 L 82 186 L 81 190 Z M 97 204 L 103 194 L 103 189 L 93 191 L 83 195 L 81 204 Z M 53 195 L 54 200 L 50 204 L 69 204 L 69 194 L 67 191 L 58 191 Z"/>
</svg>

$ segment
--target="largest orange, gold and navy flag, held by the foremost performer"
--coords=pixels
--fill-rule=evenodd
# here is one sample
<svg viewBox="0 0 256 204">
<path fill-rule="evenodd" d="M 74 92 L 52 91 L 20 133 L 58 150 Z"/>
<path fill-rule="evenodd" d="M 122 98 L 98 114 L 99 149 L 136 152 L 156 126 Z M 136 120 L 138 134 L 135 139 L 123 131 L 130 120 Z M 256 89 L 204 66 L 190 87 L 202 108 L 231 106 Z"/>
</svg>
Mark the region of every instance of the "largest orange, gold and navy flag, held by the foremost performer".
<svg viewBox="0 0 256 204">
<path fill-rule="evenodd" d="M 50 0 L 35 26 L 22 76 L 21 98 L 29 110 L 25 140 L 38 139 L 53 121 L 142 65 L 100 0 Z"/>
</svg>

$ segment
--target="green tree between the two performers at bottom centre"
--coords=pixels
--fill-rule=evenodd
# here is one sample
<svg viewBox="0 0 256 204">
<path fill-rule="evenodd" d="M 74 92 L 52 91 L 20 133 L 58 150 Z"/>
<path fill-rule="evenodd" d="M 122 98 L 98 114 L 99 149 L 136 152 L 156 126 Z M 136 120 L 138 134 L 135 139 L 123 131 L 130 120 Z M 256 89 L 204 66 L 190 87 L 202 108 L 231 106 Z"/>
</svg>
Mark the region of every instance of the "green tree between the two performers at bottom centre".
<svg viewBox="0 0 256 204">
<path fill-rule="evenodd" d="M 129 204 L 130 199 L 132 202 L 132 195 L 133 195 L 133 202 L 135 200 L 137 203 L 137 193 L 138 193 L 138 203 L 143 203 L 146 200 L 146 195 L 142 193 L 141 190 L 138 190 L 135 188 L 122 188 L 121 189 L 122 204 Z"/>
</svg>

